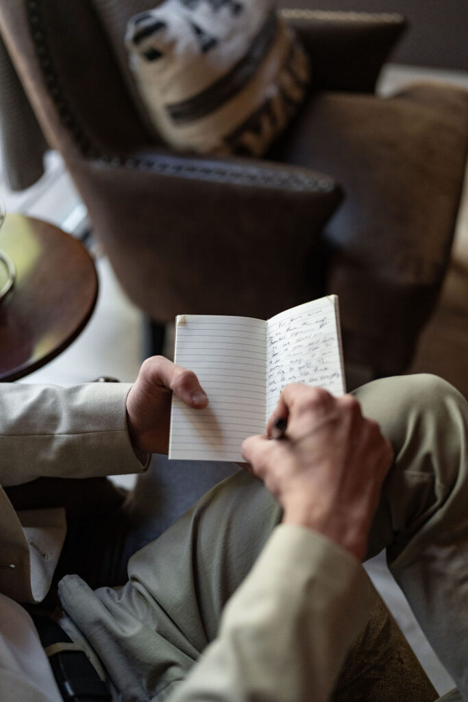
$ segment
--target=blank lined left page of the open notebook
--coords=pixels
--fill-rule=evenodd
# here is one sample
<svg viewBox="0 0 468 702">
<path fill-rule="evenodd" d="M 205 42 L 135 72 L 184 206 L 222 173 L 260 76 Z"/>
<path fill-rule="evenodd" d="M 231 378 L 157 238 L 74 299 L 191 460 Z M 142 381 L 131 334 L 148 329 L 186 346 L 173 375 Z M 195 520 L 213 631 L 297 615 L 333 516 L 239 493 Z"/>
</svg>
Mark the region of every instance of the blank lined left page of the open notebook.
<svg viewBox="0 0 468 702">
<path fill-rule="evenodd" d="M 265 432 L 265 321 L 185 314 L 176 320 L 176 363 L 199 377 L 206 409 L 173 395 L 169 458 L 242 461 L 243 439 Z"/>
</svg>

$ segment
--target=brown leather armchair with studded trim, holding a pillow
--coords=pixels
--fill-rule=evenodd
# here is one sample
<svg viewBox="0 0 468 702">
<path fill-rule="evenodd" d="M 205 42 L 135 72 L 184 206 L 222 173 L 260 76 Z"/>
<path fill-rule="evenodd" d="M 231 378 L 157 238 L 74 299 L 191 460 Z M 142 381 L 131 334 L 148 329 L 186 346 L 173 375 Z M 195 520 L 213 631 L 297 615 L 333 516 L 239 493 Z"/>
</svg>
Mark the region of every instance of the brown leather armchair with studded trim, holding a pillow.
<svg viewBox="0 0 468 702">
<path fill-rule="evenodd" d="M 182 312 L 265 318 L 337 293 L 347 363 L 368 377 L 403 372 L 448 265 L 468 92 L 417 84 L 378 98 L 401 18 L 285 11 L 314 80 L 283 138 L 265 159 L 171 152 L 123 48 L 126 20 L 155 4 L 0 6 L 25 91 L 123 288 L 157 322 Z"/>
</svg>

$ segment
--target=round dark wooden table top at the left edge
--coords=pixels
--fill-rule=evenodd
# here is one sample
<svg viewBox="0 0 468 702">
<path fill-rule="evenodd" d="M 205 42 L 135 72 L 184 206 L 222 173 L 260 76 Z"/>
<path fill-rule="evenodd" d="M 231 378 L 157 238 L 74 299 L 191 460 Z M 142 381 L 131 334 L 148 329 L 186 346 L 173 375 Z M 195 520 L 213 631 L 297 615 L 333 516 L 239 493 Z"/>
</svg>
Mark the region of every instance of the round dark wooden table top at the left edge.
<svg viewBox="0 0 468 702">
<path fill-rule="evenodd" d="M 0 300 L 0 380 L 44 366 L 79 335 L 98 297 L 98 276 L 80 241 L 41 220 L 7 214 L 0 250 L 16 279 Z M 0 288 L 6 272 L 0 270 Z"/>
</svg>

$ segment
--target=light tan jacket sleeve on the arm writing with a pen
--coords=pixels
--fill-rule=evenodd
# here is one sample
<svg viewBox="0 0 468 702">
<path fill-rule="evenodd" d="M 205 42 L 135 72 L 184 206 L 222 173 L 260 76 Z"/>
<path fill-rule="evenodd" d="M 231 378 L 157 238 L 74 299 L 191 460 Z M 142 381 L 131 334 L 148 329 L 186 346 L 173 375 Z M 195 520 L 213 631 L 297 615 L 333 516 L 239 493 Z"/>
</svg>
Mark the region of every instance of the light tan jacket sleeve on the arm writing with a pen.
<svg viewBox="0 0 468 702">
<path fill-rule="evenodd" d="M 309 529 L 276 527 L 168 702 L 326 702 L 366 623 L 368 593 L 347 551 Z"/>
</svg>

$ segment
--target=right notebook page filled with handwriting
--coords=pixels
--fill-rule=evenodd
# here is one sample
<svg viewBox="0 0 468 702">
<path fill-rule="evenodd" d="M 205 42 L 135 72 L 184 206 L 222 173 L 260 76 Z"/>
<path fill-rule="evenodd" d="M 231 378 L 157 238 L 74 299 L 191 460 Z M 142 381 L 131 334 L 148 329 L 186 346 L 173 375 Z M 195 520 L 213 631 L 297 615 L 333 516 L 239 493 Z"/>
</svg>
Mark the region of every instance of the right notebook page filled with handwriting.
<svg viewBox="0 0 468 702">
<path fill-rule="evenodd" d="M 329 295 L 268 320 L 267 419 L 289 383 L 345 392 L 339 316 L 338 298 Z"/>
</svg>

